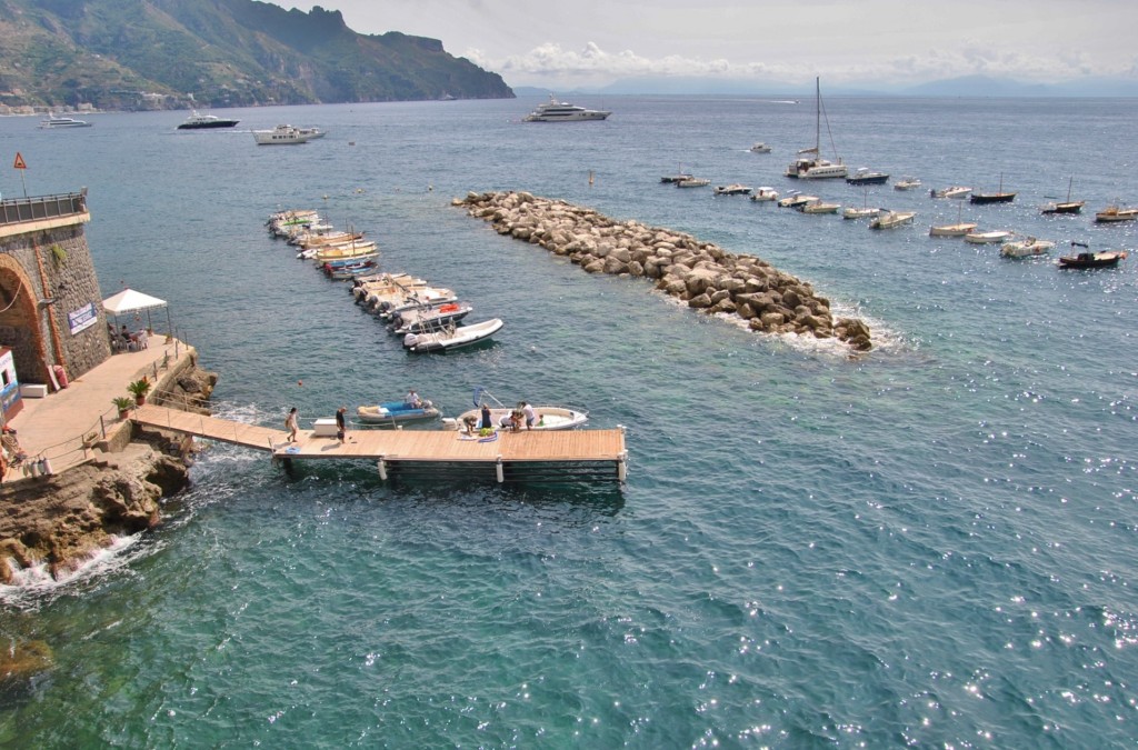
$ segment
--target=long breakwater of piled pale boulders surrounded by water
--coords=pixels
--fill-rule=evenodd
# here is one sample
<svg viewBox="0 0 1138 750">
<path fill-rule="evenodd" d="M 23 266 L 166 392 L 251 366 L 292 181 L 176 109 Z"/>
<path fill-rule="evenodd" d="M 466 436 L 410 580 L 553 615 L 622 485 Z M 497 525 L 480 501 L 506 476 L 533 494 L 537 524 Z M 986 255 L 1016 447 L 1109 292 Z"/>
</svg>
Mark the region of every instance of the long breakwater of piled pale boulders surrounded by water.
<svg viewBox="0 0 1138 750">
<path fill-rule="evenodd" d="M 690 307 L 737 316 L 753 331 L 838 338 L 858 352 L 873 347 L 865 322 L 835 319 L 830 300 L 808 282 L 761 258 L 528 192 L 471 192 L 453 204 L 500 234 L 541 245 L 589 273 L 651 279 Z"/>
</svg>

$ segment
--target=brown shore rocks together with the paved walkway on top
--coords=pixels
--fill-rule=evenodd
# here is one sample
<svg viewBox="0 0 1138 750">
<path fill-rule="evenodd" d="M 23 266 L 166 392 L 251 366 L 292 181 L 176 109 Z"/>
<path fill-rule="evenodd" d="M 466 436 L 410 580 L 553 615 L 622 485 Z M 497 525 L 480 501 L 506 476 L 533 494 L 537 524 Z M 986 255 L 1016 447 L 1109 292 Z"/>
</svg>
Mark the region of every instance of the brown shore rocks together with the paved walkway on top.
<svg viewBox="0 0 1138 750">
<path fill-rule="evenodd" d="M 157 526 L 162 498 L 189 484 L 191 438 L 108 419 L 101 406 L 108 393 L 152 377 L 154 403 L 208 413 L 217 376 L 198 368 L 196 349 L 180 341 L 154 349 L 114 355 L 13 420 L 22 447 L 48 456 L 52 468 L 40 476 L 9 469 L 0 485 L 0 583 L 11 585 L 20 570 L 40 564 L 52 578 L 66 577 L 115 537 Z M 60 442 L 60 435 L 74 437 Z"/>
</svg>

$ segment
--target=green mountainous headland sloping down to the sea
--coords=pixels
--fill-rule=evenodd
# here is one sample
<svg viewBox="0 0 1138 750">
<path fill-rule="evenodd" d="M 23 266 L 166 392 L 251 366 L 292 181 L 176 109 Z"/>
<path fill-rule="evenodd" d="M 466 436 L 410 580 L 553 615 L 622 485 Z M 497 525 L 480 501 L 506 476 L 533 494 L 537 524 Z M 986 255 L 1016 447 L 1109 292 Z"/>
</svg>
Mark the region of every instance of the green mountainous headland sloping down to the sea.
<svg viewBox="0 0 1138 750">
<path fill-rule="evenodd" d="M 500 99 L 435 39 L 256 0 L 0 0 L 0 104 L 100 109 Z"/>
</svg>

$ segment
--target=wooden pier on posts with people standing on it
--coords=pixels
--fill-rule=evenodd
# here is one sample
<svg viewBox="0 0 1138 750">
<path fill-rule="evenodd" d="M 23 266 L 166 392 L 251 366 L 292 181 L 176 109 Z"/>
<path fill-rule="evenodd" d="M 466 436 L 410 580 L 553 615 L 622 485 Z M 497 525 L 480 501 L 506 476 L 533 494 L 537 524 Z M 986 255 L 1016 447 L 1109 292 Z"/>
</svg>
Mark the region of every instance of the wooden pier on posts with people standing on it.
<svg viewBox="0 0 1138 750">
<path fill-rule="evenodd" d="M 271 453 L 273 459 L 376 461 L 381 479 L 487 478 L 503 481 L 624 481 L 628 452 L 624 428 L 521 430 L 475 438 L 452 430 L 348 430 L 335 435 L 300 430 L 295 443 L 280 429 L 245 425 L 147 404 L 133 412 L 138 425 L 172 430 Z"/>
</svg>

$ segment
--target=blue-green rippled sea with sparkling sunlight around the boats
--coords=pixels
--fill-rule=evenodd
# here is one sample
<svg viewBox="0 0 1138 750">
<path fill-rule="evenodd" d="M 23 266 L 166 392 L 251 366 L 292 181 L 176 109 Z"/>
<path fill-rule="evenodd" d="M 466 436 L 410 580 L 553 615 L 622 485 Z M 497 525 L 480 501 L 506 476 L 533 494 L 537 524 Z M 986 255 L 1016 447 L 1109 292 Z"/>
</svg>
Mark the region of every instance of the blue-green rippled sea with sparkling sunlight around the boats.
<svg viewBox="0 0 1138 750">
<path fill-rule="evenodd" d="M 213 132 L 178 131 L 184 112 L 0 118 L 0 157 L 27 166 L 0 192 L 88 190 L 104 296 L 168 302 L 220 374 L 216 414 L 304 426 L 415 388 L 453 417 L 481 387 L 587 409 L 629 454 L 622 485 L 497 486 L 204 445 L 160 527 L 0 592 L 5 643 L 51 654 L 0 684 L 0 745 L 1133 747 L 1138 257 L 1055 257 L 1138 245 L 1094 223 L 1138 204 L 1138 100 L 825 98 L 823 155 L 892 175 L 857 188 L 783 176 L 813 92 L 577 96 L 612 116 L 522 123 L 543 99 L 223 110 L 240 124 Z M 255 146 L 286 122 L 328 134 Z M 660 182 L 678 171 L 916 220 Z M 1013 203 L 927 192 L 1000 183 Z M 1069 186 L 1085 212 L 1042 215 Z M 750 332 L 452 205 L 490 190 L 765 258 L 874 349 Z M 504 328 L 407 354 L 269 236 L 283 208 Z M 1056 248 L 929 236 L 957 221 Z"/>
</svg>

